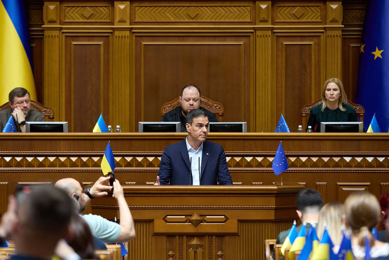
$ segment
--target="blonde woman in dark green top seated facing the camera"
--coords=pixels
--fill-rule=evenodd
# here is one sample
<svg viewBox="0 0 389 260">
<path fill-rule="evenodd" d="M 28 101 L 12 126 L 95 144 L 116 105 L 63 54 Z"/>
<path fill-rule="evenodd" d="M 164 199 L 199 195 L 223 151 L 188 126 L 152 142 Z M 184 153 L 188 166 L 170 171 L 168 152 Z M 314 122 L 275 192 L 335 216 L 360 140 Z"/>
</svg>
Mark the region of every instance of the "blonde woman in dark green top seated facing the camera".
<svg viewBox="0 0 389 260">
<path fill-rule="evenodd" d="M 324 82 L 321 100 L 321 104 L 311 109 L 308 119 L 308 126 L 315 132 L 320 132 L 321 122 L 357 121 L 355 110 L 347 104 L 343 83 L 338 78 L 330 78 Z"/>
</svg>

